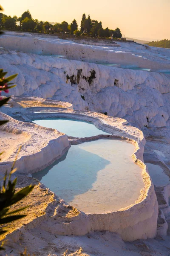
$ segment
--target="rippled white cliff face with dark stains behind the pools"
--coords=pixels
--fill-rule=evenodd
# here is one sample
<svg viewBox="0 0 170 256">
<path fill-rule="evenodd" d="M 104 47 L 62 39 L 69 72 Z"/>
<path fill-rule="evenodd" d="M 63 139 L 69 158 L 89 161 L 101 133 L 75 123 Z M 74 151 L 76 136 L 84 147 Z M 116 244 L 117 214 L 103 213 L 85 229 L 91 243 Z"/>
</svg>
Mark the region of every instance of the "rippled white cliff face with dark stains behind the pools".
<svg viewBox="0 0 170 256">
<path fill-rule="evenodd" d="M 0 49 L 0 63 L 18 73 L 14 95 L 73 104 L 75 109 L 107 112 L 139 128 L 164 127 L 170 115 L 170 74 L 107 67 L 93 63 Z"/>
</svg>

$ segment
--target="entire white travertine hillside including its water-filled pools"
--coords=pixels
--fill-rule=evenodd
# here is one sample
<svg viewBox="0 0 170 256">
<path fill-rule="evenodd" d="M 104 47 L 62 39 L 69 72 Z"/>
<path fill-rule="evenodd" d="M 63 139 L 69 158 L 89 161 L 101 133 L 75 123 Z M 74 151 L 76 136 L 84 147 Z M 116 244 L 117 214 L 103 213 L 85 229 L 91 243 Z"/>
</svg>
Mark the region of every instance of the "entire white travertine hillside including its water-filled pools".
<svg viewBox="0 0 170 256">
<path fill-rule="evenodd" d="M 0 175 L 22 145 L 17 186 L 35 184 L 6 235 L 14 255 L 67 245 L 85 248 L 76 256 L 169 256 L 170 49 L 14 32 L 0 47 L 3 69 L 18 73 L 0 108 Z"/>
</svg>

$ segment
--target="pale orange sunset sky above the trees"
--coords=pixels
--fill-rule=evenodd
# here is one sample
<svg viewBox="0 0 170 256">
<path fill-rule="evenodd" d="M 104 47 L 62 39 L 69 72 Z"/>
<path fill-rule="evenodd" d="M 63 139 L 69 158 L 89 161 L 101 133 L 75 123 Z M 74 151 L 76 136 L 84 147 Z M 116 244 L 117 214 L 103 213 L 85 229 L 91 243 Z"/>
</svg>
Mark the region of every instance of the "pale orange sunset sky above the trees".
<svg viewBox="0 0 170 256">
<path fill-rule="evenodd" d="M 122 35 L 141 39 L 170 39 L 170 0 L 1 0 L 6 15 L 20 17 L 29 9 L 32 18 L 80 26 L 82 14 L 102 20 L 103 28 L 119 27 Z"/>
</svg>

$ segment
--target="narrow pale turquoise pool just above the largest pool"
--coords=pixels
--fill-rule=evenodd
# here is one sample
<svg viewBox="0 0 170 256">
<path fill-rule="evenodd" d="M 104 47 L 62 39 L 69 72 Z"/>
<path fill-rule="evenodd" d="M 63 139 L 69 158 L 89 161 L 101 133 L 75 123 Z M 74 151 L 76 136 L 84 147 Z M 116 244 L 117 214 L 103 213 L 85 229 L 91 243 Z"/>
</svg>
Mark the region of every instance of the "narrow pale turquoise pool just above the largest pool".
<svg viewBox="0 0 170 256">
<path fill-rule="evenodd" d="M 58 131 L 61 131 L 67 134 L 68 136 L 72 136 L 72 137 L 83 138 L 83 137 L 96 136 L 99 134 L 108 134 L 107 132 L 99 130 L 98 128 L 96 128 L 95 125 L 91 123 L 73 120 L 73 119 L 65 119 L 65 118 L 43 119 L 43 120 L 34 120 L 34 123 L 47 128 L 57 129 Z"/>
</svg>

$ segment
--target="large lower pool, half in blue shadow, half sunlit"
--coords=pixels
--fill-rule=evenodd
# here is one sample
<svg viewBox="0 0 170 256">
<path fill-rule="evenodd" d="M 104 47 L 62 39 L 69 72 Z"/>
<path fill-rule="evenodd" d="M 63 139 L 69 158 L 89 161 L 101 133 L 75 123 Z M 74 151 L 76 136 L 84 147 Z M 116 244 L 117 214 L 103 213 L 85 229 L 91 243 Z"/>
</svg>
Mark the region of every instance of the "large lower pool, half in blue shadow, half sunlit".
<svg viewBox="0 0 170 256">
<path fill-rule="evenodd" d="M 134 204 L 144 187 L 142 169 L 131 157 L 134 149 L 125 141 L 107 139 L 72 145 L 33 177 L 79 210 L 117 211 Z"/>
</svg>

